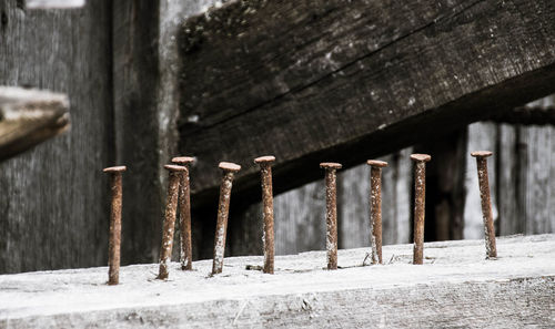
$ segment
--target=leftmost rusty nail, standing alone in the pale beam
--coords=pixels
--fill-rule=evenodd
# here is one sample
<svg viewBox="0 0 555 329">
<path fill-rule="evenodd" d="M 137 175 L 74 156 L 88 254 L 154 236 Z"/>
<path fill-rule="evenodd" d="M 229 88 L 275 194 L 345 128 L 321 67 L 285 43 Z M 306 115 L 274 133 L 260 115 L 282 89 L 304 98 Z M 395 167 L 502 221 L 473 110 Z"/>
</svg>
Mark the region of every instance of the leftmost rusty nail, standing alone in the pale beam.
<svg viewBox="0 0 555 329">
<path fill-rule="evenodd" d="M 120 282 L 120 249 L 121 249 L 121 204 L 122 186 L 121 176 L 125 166 L 108 167 L 104 173 L 110 173 L 110 189 L 112 191 L 112 207 L 110 210 L 110 236 L 108 237 L 108 285 Z"/>
</svg>

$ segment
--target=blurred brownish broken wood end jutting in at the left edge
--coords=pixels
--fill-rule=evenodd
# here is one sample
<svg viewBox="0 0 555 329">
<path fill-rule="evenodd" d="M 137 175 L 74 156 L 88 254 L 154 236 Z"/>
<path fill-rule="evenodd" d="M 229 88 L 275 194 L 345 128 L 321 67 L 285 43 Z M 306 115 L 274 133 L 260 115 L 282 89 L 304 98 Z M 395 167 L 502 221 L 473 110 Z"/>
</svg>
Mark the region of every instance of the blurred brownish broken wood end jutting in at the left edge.
<svg viewBox="0 0 555 329">
<path fill-rule="evenodd" d="M 69 128 L 68 96 L 0 86 L 0 161 Z"/>
</svg>

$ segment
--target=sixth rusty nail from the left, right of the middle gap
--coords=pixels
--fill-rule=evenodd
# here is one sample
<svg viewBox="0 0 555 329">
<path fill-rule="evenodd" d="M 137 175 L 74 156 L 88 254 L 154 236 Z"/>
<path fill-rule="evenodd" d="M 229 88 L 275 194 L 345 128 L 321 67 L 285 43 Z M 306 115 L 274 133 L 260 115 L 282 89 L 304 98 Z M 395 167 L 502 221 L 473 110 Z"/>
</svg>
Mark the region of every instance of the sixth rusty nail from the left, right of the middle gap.
<svg viewBox="0 0 555 329">
<path fill-rule="evenodd" d="M 325 169 L 325 249 L 327 250 L 327 269 L 337 269 L 337 186 L 336 171 L 341 164 L 324 162 Z"/>
</svg>

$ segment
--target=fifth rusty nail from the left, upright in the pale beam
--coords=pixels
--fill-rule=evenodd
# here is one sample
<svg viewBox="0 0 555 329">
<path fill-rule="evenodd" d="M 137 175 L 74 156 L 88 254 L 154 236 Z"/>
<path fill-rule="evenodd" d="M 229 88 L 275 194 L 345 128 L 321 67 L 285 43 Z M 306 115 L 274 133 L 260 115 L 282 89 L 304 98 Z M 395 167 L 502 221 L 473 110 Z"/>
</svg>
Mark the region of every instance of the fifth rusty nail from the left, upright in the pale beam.
<svg viewBox="0 0 555 329">
<path fill-rule="evenodd" d="M 264 233 L 262 243 L 264 244 L 264 273 L 274 274 L 274 199 L 272 193 L 272 163 L 275 157 L 272 155 L 256 157 L 255 163 L 260 165 L 262 179 L 262 205 L 264 217 Z"/>
</svg>

